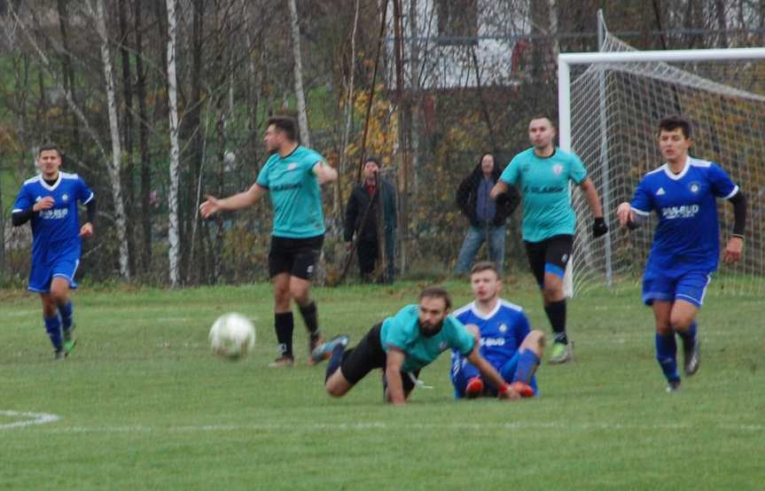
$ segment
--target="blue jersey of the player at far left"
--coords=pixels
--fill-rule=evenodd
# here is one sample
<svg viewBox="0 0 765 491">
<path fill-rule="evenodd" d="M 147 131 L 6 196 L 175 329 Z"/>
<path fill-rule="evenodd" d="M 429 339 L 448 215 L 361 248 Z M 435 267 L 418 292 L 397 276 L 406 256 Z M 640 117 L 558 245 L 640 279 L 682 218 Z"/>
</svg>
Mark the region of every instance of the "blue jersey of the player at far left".
<svg viewBox="0 0 765 491">
<path fill-rule="evenodd" d="M 45 183 L 42 175 L 27 179 L 16 197 L 13 211 L 24 211 L 40 199 L 51 197 L 53 207 L 32 216 L 32 262 L 50 264 L 67 256 L 78 259 L 82 249 L 80 220 L 77 202 L 83 205 L 93 199 L 93 191 L 76 174 L 59 172 L 52 185 Z"/>
</svg>

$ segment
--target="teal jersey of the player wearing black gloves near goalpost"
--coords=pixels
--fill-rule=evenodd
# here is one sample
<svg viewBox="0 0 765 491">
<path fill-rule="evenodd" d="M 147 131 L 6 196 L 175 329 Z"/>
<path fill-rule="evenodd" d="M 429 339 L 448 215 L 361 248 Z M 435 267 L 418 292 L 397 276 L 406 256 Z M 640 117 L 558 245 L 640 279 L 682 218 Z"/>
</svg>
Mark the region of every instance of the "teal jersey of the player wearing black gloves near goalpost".
<svg viewBox="0 0 765 491">
<path fill-rule="evenodd" d="M 523 239 L 541 242 L 552 236 L 574 235 L 576 215 L 568 182 L 581 184 L 587 170 L 575 153 L 556 147 L 550 157 L 538 157 L 529 148 L 512 158 L 499 177 L 523 192 Z"/>
</svg>

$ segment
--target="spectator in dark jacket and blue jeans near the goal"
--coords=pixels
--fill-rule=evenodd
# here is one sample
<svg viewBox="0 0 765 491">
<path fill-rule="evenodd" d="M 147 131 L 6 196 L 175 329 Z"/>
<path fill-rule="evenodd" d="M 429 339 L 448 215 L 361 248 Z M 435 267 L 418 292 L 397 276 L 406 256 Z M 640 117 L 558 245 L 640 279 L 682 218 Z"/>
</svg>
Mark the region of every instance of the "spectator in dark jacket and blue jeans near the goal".
<svg viewBox="0 0 765 491">
<path fill-rule="evenodd" d="M 457 207 L 470 222 L 457 257 L 457 275 L 464 275 L 470 270 L 472 260 L 484 241 L 488 242 L 491 261 L 496 264 L 497 270 L 502 271 L 504 223 L 518 206 L 520 196 L 518 190 L 511 186 L 507 192 L 497 197 L 496 201 L 489 197 L 489 192 L 501 173 L 502 169 L 496 163 L 494 155 L 484 153 L 479 164 L 457 188 Z"/>
</svg>

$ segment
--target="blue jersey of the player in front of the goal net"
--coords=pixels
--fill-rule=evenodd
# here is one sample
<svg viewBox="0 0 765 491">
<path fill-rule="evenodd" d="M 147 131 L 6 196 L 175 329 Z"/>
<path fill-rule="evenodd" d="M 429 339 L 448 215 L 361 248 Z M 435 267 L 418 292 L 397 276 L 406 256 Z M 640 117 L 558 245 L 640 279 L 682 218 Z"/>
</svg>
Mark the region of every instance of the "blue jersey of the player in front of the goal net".
<svg viewBox="0 0 765 491">
<path fill-rule="evenodd" d="M 646 271 L 675 277 L 717 269 L 720 226 L 715 199 L 732 198 L 737 192 L 722 168 L 691 157 L 680 174 L 664 164 L 644 175 L 630 205 L 636 214 L 655 211 L 659 216 Z"/>
</svg>

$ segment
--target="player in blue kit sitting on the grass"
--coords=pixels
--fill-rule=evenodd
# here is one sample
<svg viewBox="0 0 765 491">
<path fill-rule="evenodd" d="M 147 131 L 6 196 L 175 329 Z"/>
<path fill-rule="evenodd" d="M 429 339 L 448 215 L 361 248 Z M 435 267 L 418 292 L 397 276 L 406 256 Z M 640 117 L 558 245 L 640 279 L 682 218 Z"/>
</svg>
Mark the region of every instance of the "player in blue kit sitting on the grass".
<svg viewBox="0 0 765 491">
<path fill-rule="evenodd" d="M 523 308 L 499 298 L 502 280 L 493 262 L 476 263 L 470 284 L 475 300 L 453 316 L 474 330 L 480 338 L 480 355 L 505 383 L 524 397 L 538 395 L 535 371 L 543 355 L 543 331 L 530 331 Z M 451 355 L 451 382 L 457 399 L 496 394 L 496 385 L 485 384 L 480 371 L 457 350 Z"/>
</svg>

